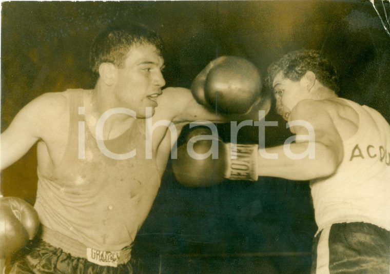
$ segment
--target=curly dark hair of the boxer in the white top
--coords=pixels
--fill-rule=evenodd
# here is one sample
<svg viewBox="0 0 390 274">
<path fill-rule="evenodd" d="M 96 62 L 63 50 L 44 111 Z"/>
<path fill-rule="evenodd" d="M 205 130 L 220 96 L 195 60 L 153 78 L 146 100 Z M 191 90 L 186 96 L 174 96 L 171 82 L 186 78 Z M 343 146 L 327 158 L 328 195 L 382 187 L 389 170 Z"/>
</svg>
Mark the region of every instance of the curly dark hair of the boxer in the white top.
<svg viewBox="0 0 390 274">
<path fill-rule="evenodd" d="M 279 72 L 291 81 L 299 81 L 307 71 L 313 71 L 325 87 L 339 92 L 336 68 L 318 50 L 304 49 L 287 53 L 268 67 L 266 84 L 272 89 L 272 82 Z"/>
</svg>

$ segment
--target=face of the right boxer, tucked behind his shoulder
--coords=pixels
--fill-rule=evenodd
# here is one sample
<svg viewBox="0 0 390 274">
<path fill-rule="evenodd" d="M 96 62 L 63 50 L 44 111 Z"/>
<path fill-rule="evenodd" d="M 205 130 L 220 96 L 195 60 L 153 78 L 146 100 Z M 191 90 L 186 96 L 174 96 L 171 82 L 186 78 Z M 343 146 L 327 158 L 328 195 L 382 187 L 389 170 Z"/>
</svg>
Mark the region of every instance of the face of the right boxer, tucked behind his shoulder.
<svg viewBox="0 0 390 274">
<path fill-rule="evenodd" d="M 278 114 L 288 120 L 291 110 L 303 99 L 307 99 L 304 83 L 291 81 L 279 72 L 272 83 Z"/>
</svg>

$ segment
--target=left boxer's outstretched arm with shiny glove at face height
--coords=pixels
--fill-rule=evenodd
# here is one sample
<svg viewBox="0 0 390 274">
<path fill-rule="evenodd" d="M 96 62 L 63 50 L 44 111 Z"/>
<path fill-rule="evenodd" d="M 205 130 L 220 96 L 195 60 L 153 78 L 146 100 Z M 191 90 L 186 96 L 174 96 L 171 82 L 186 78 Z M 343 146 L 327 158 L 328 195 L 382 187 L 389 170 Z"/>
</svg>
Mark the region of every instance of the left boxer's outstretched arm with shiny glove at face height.
<svg viewBox="0 0 390 274">
<path fill-rule="evenodd" d="M 195 77 L 191 90 L 167 88 L 158 101 L 160 111 L 171 113 L 175 123 L 258 120 L 259 110 L 266 114 L 271 105 L 257 67 L 238 56 L 212 60 Z"/>
</svg>

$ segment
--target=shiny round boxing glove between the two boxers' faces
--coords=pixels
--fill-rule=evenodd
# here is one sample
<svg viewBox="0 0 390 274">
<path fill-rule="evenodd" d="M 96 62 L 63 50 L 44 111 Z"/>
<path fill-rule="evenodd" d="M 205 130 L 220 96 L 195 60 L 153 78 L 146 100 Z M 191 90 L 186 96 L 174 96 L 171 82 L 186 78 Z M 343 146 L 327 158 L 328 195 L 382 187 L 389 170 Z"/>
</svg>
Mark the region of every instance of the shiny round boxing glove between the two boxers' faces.
<svg viewBox="0 0 390 274">
<path fill-rule="evenodd" d="M 211 61 L 191 85 L 198 103 L 228 114 L 247 113 L 259 103 L 261 88 L 257 67 L 237 56 L 221 56 Z"/>
</svg>

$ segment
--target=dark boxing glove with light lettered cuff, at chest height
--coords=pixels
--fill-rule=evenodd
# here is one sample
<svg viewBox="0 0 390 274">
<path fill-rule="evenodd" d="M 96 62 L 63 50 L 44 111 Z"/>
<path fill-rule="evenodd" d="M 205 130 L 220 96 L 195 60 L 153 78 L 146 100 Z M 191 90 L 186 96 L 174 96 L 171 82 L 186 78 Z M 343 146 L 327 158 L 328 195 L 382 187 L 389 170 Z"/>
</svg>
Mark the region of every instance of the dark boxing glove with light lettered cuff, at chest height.
<svg viewBox="0 0 390 274">
<path fill-rule="evenodd" d="M 258 145 L 224 143 L 209 128 L 195 128 L 172 159 L 176 179 L 188 187 L 212 186 L 229 180 L 257 181 Z"/>
</svg>

